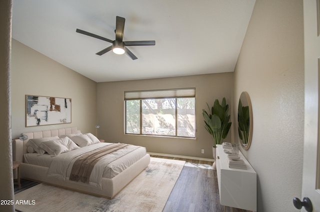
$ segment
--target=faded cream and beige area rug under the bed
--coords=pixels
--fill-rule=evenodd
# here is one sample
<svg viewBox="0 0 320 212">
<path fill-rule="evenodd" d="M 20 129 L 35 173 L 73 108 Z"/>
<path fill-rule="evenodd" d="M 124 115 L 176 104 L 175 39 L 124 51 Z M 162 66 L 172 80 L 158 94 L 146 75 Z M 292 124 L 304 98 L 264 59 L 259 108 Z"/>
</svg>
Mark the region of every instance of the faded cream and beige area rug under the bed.
<svg viewBox="0 0 320 212">
<path fill-rule="evenodd" d="M 184 161 L 151 158 L 143 170 L 112 200 L 45 184 L 14 195 L 19 212 L 161 212 Z"/>
</svg>

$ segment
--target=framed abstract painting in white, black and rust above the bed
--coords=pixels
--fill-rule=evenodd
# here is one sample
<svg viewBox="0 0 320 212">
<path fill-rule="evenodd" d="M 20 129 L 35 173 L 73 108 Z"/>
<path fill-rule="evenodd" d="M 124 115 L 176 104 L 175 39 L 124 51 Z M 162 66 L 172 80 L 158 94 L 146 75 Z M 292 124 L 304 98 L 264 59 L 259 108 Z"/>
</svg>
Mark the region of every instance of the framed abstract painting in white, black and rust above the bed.
<svg viewBox="0 0 320 212">
<path fill-rule="evenodd" d="M 71 99 L 25 95 L 25 126 L 71 123 Z"/>
</svg>

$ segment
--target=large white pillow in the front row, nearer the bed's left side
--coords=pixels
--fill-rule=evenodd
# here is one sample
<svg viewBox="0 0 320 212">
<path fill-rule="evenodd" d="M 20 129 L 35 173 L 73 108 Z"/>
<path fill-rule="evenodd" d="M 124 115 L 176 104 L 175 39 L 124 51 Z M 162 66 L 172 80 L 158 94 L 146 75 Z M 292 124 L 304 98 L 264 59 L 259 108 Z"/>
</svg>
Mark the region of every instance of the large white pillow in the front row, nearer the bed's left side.
<svg viewBox="0 0 320 212">
<path fill-rule="evenodd" d="M 39 148 L 43 149 L 45 152 L 51 155 L 51 157 L 54 157 L 60 155 L 61 153 L 78 149 L 79 147 L 76 146 L 76 144 L 74 144 L 74 142 L 68 137 L 64 137 L 53 141 L 42 142 Z"/>
</svg>

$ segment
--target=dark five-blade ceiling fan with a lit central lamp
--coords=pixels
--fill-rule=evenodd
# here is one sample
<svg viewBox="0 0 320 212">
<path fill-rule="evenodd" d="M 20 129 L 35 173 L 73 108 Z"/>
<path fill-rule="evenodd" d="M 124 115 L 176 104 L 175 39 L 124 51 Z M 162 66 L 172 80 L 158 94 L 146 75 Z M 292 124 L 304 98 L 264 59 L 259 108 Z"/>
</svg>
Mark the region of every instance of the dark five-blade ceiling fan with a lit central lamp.
<svg viewBox="0 0 320 212">
<path fill-rule="evenodd" d="M 106 47 L 105 49 L 102 49 L 101 51 L 95 53 L 97 55 L 102 55 L 112 50 L 116 54 L 126 53 L 132 60 L 135 60 L 137 59 L 137 57 L 126 46 L 155 45 L 155 41 L 154 40 L 122 41 L 123 31 L 124 31 L 124 21 L 125 21 L 124 17 L 116 16 L 115 30 L 114 30 L 115 40 L 110 40 L 108 38 L 101 37 L 99 35 L 92 34 L 91 32 L 87 32 L 81 29 L 76 29 L 76 32 L 112 43 L 112 45 L 110 45 L 109 47 Z"/>
</svg>

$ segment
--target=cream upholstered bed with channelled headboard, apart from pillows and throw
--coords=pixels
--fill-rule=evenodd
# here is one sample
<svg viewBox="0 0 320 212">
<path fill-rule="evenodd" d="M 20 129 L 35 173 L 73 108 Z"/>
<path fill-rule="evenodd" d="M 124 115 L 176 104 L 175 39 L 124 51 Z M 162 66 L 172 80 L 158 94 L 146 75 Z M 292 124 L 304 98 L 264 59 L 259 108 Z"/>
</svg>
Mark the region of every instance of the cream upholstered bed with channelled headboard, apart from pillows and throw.
<svg viewBox="0 0 320 212">
<path fill-rule="evenodd" d="M 74 150 L 69 152 L 59 153 L 57 156 L 49 155 L 48 153 L 38 155 L 36 152 L 28 153 L 30 142 L 28 143 L 28 145 L 27 142 L 30 139 L 32 139 L 31 141 L 33 141 L 39 138 L 49 138 L 54 136 L 58 136 L 59 138 L 61 138 L 65 137 L 66 135 L 79 135 L 81 134 L 81 132 L 77 130 L 76 127 L 73 127 L 30 132 L 24 134 L 28 136 L 28 139 L 24 141 L 14 139 L 12 141 L 13 161 L 21 162 L 19 166 L 20 178 L 40 183 L 46 183 L 49 185 L 54 185 L 98 197 L 112 199 L 128 183 L 130 183 L 130 181 L 132 181 L 140 172 L 142 172 L 150 162 L 150 156 L 146 154 L 146 150 L 144 147 L 125 145 L 125 148 L 129 150 L 127 150 L 126 153 L 121 152 L 124 151 L 122 149 L 112 152 L 110 155 L 112 155 L 112 157 L 114 155 L 118 155 L 118 158 L 112 160 L 110 159 L 111 162 L 107 162 L 107 168 L 105 168 L 103 171 L 97 168 L 95 169 L 98 164 L 99 166 L 101 166 L 103 162 L 99 161 L 94 166 L 93 169 L 95 170 L 93 170 L 92 173 L 98 173 L 97 176 L 102 176 L 100 177 L 100 179 L 95 176 L 94 178 L 96 178 L 96 180 L 91 182 L 90 177 L 89 183 L 83 183 L 81 181 L 71 181 L 69 179 L 69 177 L 71 176 L 71 165 L 75 164 L 75 158 L 83 155 L 81 151 L 85 151 L 85 148 L 91 151 L 99 148 L 106 148 L 105 146 L 110 145 L 110 143 L 97 142 L 86 147 L 75 148 Z M 72 140 L 72 137 L 70 138 Z M 113 145 L 119 146 L 117 144 Z M 69 164 L 61 165 L 61 161 L 64 161 L 67 158 L 72 158 L 71 161 L 68 162 Z M 103 160 L 109 159 L 103 158 Z M 57 168 L 52 168 L 51 165 L 53 166 L 53 164 L 55 164 Z M 56 173 L 56 171 L 58 173 Z"/>
</svg>

